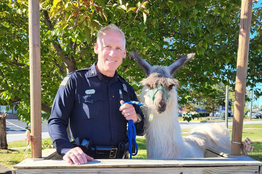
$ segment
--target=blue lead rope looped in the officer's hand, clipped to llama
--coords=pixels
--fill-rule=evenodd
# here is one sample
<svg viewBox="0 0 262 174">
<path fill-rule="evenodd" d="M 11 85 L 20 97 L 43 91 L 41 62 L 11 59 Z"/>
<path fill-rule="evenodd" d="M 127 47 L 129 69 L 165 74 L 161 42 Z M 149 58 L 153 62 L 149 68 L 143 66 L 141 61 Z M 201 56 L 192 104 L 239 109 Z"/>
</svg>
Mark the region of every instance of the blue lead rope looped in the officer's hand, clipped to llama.
<svg viewBox="0 0 262 174">
<path fill-rule="evenodd" d="M 129 102 L 125 102 L 125 103 L 128 103 L 130 105 L 133 105 L 133 104 L 136 104 L 136 105 L 139 105 L 139 106 L 143 105 L 142 103 L 139 103 L 137 101 L 129 101 Z M 123 104 L 125 104 L 125 103 L 123 103 Z M 134 133 L 133 133 L 133 130 L 134 130 Z M 128 134 L 128 142 L 129 142 L 128 152 L 130 153 L 130 159 L 132 159 L 132 156 L 137 155 L 137 152 L 138 152 L 138 146 L 137 146 L 137 141 L 136 141 L 137 131 L 136 131 L 133 120 L 128 120 L 127 134 Z M 136 146 L 136 153 L 135 154 L 132 154 L 132 143 L 134 143 L 135 146 Z"/>
</svg>

